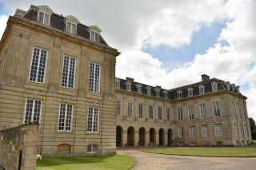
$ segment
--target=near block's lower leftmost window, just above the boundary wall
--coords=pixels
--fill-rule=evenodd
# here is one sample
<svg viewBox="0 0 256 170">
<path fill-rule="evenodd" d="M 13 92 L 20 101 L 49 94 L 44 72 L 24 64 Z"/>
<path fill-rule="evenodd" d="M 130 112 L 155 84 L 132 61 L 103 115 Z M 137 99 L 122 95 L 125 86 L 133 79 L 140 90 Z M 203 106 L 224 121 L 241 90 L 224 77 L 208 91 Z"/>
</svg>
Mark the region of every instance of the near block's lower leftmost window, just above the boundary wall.
<svg viewBox="0 0 256 170">
<path fill-rule="evenodd" d="M 26 100 L 26 109 L 25 109 L 25 117 L 24 122 L 37 122 L 40 123 L 41 117 L 41 104 L 42 101 L 27 99 Z"/>
</svg>

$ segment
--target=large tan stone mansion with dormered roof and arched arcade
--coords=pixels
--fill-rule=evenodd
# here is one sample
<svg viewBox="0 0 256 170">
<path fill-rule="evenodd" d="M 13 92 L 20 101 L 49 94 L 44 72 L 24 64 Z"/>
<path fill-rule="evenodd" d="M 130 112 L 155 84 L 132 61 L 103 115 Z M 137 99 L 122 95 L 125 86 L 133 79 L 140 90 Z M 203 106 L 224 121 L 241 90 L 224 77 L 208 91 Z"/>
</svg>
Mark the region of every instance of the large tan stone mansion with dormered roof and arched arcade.
<svg viewBox="0 0 256 170">
<path fill-rule="evenodd" d="M 44 156 L 251 142 L 239 86 L 207 75 L 176 89 L 117 78 L 120 53 L 100 33 L 48 6 L 16 10 L 0 42 L 0 129 L 38 122 Z"/>
</svg>

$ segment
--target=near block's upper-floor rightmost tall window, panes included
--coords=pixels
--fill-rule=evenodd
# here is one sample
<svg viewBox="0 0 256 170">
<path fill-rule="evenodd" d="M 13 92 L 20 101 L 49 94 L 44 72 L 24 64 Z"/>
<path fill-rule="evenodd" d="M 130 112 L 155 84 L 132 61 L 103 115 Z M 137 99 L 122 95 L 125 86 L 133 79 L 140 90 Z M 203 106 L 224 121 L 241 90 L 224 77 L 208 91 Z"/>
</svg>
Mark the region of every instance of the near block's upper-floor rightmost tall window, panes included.
<svg viewBox="0 0 256 170">
<path fill-rule="evenodd" d="M 100 73 L 101 65 L 96 63 L 90 63 L 90 81 L 89 81 L 89 91 L 93 93 L 100 92 Z"/>
</svg>

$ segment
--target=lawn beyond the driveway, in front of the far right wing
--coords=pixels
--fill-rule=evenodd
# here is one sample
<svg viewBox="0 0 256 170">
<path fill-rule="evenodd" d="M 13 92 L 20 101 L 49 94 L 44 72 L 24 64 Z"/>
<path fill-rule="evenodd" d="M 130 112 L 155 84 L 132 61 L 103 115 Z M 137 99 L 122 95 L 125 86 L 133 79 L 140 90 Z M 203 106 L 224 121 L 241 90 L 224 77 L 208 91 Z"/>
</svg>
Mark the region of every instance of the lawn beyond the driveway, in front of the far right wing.
<svg viewBox="0 0 256 170">
<path fill-rule="evenodd" d="M 144 148 L 142 151 L 181 156 L 256 157 L 256 141 L 245 147 Z"/>
</svg>

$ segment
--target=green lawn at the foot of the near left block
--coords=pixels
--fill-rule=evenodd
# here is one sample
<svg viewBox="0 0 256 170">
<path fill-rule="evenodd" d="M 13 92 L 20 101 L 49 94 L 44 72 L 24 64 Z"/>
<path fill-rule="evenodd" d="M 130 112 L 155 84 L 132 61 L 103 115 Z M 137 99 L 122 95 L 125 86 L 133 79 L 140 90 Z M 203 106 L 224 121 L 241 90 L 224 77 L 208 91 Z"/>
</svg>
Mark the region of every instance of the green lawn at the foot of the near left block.
<svg viewBox="0 0 256 170">
<path fill-rule="evenodd" d="M 134 166 L 130 156 L 43 157 L 37 170 L 127 170 Z"/>
</svg>

